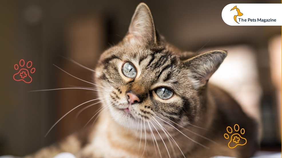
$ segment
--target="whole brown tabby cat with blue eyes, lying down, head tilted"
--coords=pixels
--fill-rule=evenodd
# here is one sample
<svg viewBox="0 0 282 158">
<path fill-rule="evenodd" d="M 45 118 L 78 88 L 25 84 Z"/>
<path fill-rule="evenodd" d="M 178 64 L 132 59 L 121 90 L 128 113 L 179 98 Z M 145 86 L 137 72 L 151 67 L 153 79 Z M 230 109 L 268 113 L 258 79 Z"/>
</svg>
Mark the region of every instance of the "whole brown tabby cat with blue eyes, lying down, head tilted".
<svg viewBox="0 0 282 158">
<path fill-rule="evenodd" d="M 105 98 L 97 124 L 26 158 L 60 152 L 78 158 L 250 157 L 258 146 L 256 122 L 208 84 L 226 56 L 224 50 L 194 54 L 168 44 L 140 3 L 128 33 L 95 69 L 98 95 Z M 225 134 L 235 124 L 244 129 L 246 144 L 230 148 Z"/>
</svg>

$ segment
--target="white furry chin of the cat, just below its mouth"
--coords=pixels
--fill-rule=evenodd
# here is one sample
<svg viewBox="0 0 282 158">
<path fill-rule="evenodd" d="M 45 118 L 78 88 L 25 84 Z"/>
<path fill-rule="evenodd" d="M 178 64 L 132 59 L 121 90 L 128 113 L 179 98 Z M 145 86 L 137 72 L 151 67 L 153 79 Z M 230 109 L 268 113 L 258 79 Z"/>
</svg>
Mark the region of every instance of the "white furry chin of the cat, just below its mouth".
<svg viewBox="0 0 282 158">
<path fill-rule="evenodd" d="M 134 117 L 128 109 L 119 109 L 110 107 L 110 114 L 112 118 L 120 125 L 126 128 L 137 129 L 138 123 L 140 122 L 139 118 Z"/>
</svg>

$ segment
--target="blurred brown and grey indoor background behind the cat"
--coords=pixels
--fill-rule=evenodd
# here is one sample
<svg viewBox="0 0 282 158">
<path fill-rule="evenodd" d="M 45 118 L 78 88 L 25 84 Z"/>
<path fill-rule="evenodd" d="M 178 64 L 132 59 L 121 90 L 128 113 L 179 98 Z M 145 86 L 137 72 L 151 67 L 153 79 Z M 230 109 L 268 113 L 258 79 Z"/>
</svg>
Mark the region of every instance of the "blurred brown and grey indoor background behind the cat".
<svg viewBox="0 0 282 158">
<path fill-rule="evenodd" d="M 0 0 L 0 155 L 26 155 L 81 130 L 99 105 L 65 116 L 96 95 L 92 87 L 100 54 L 126 34 L 141 1 Z M 260 125 L 263 151 L 281 151 L 281 26 L 229 26 L 221 11 L 230 3 L 281 3 L 280 0 L 148 1 L 155 27 L 182 50 L 229 51 L 210 82 L 228 91 Z M 243 13 L 243 11 L 242 11 Z M 62 57 L 63 56 L 63 57 Z M 32 61 L 31 83 L 15 81 L 21 59 Z M 54 65 L 53 65 L 54 64 Z M 92 124 L 93 120 L 90 123 Z"/>
</svg>

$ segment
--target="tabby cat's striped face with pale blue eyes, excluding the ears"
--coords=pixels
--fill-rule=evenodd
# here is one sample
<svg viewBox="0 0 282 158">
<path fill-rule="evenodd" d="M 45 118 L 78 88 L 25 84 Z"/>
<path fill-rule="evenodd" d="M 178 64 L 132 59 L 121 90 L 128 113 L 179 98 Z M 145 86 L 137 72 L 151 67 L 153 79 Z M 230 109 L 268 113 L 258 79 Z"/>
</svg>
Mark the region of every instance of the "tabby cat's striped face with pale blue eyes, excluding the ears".
<svg viewBox="0 0 282 158">
<path fill-rule="evenodd" d="M 188 74 L 179 56 L 165 49 L 140 47 L 140 52 L 135 52 L 127 47 L 125 44 L 108 50 L 110 54 L 99 68 L 100 83 L 111 92 L 102 94 L 109 98 L 112 117 L 120 124 L 134 126 L 140 119 L 154 118 L 156 113 L 180 119 L 188 110 L 192 116 L 198 98 L 186 80 Z M 132 96 L 128 93 L 139 100 L 129 102 Z"/>
</svg>

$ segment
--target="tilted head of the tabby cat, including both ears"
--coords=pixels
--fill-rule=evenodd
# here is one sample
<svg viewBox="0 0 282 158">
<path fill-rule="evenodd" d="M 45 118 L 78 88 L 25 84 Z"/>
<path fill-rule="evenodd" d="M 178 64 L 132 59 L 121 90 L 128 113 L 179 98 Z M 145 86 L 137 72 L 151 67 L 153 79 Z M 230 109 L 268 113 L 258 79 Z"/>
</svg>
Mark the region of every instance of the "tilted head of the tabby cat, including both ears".
<svg viewBox="0 0 282 158">
<path fill-rule="evenodd" d="M 195 122 L 204 111 L 206 83 L 226 56 L 223 50 L 180 53 L 158 35 L 148 6 L 140 3 L 124 39 L 102 54 L 95 80 L 121 125 L 137 128 L 140 120 L 157 117 Z"/>
</svg>

